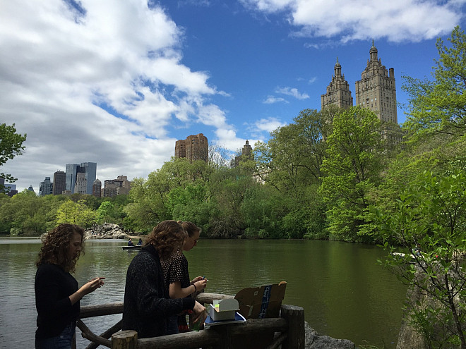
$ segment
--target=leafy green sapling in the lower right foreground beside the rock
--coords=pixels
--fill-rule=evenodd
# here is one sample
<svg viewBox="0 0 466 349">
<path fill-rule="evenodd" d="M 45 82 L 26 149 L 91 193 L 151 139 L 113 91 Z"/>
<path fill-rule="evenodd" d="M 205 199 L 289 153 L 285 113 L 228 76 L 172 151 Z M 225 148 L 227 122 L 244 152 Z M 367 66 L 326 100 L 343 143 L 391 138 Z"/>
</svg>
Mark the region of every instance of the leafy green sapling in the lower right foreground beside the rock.
<svg viewBox="0 0 466 349">
<path fill-rule="evenodd" d="M 387 250 L 420 251 L 400 259 L 389 255 L 385 261 L 402 280 L 436 300 L 409 308 L 414 328 L 438 348 L 453 344 L 465 349 L 465 173 L 424 172 L 401 193 L 394 212 L 372 211 Z"/>
</svg>

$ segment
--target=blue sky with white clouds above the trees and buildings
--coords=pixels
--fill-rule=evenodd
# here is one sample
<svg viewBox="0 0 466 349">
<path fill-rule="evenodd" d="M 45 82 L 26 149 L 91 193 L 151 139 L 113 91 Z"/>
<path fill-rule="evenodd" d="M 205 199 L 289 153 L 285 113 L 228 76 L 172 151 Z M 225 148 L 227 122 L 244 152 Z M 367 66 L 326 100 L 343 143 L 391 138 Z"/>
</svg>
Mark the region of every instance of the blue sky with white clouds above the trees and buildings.
<svg viewBox="0 0 466 349">
<path fill-rule="evenodd" d="M 338 59 L 354 97 L 372 40 L 402 76 L 431 78 L 436 38 L 466 0 L 15 0 L 0 2 L 0 123 L 27 134 L 0 172 L 38 192 L 66 164 L 102 183 L 147 178 L 177 140 L 233 154 L 321 109 Z M 401 106 L 398 123 L 405 121 Z"/>
</svg>

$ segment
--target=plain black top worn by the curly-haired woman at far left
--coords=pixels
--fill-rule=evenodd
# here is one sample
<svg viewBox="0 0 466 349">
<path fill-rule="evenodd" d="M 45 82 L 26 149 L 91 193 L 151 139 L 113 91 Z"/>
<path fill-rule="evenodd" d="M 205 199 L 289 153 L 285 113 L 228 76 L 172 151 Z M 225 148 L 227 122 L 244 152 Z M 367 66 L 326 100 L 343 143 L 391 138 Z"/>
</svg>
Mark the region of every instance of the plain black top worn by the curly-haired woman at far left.
<svg viewBox="0 0 466 349">
<path fill-rule="evenodd" d="M 78 281 L 56 264 L 40 264 L 35 274 L 35 338 L 58 336 L 69 322 L 79 317 L 79 302 L 68 298 L 78 290 Z"/>
</svg>

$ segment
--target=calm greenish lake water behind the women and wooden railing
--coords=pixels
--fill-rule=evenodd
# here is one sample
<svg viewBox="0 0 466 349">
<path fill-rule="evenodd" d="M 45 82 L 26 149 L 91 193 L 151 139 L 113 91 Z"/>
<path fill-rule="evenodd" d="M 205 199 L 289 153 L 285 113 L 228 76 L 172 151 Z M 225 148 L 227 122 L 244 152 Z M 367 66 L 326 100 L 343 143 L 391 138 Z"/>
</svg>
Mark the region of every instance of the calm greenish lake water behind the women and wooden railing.
<svg viewBox="0 0 466 349">
<path fill-rule="evenodd" d="M 137 251 L 126 240 L 87 240 L 76 274 L 82 285 L 105 276 L 105 285 L 81 305 L 122 302 L 126 269 Z M 35 261 L 40 240 L 0 238 L 0 348 L 33 348 Z M 309 325 L 321 335 L 356 345 L 395 348 L 406 286 L 376 264 L 378 247 L 307 240 L 199 240 L 185 252 L 191 278 L 209 279 L 206 292 L 234 295 L 242 288 L 287 281 L 284 304 L 304 307 Z M 102 333 L 121 314 L 85 319 Z M 78 335 L 78 348 L 88 341 Z"/>
</svg>

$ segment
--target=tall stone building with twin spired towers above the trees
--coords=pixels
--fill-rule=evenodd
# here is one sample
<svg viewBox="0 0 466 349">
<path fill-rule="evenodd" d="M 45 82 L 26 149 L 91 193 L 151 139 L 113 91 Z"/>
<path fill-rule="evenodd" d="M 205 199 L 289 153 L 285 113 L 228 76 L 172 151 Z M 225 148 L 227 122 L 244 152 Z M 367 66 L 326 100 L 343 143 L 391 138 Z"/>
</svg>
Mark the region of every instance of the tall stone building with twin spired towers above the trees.
<svg viewBox="0 0 466 349">
<path fill-rule="evenodd" d="M 377 53 L 373 40 L 367 66 L 361 73 L 361 80 L 355 84 L 354 102 L 357 106 L 374 111 L 381 121 L 398 123 L 395 71 L 393 68 L 387 71 L 386 67 L 382 65 L 381 59 L 378 59 Z M 321 95 L 322 109 L 331 104 L 340 108 L 353 106 L 351 90 L 349 90 L 345 75 L 342 75 L 342 66 L 338 59 L 327 92 Z"/>
</svg>

